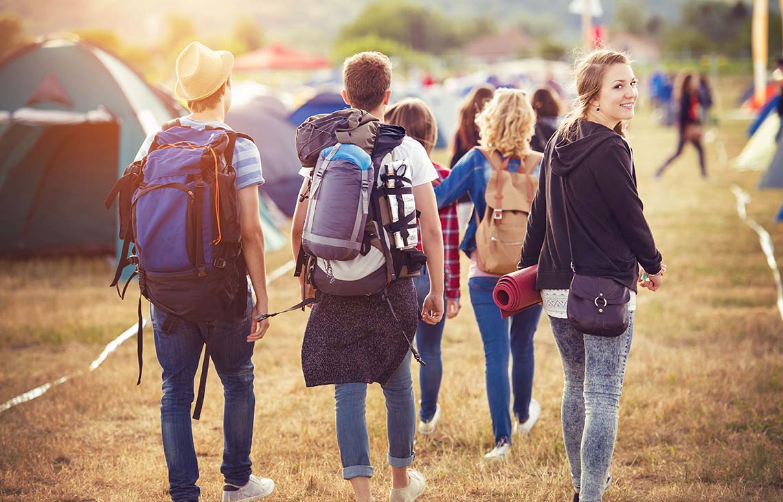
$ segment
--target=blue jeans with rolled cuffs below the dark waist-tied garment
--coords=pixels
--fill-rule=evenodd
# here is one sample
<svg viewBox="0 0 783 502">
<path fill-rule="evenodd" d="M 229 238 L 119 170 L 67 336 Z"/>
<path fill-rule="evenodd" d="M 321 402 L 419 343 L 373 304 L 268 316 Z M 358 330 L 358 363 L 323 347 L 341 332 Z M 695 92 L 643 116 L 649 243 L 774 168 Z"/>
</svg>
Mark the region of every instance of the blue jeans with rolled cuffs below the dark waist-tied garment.
<svg viewBox="0 0 783 502">
<path fill-rule="evenodd" d="M 413 380 L 410 378 L 411 352 L 402 359 L 386 385 L 381 385 L 386 398 L 386 435 L 388 463 L 391 467 L 407 467 L 413 463 L 413 437 L 416 431 L 416 403 L 413 402 Z M 364 406 L 367 385 L 364 383 L 334 386 L 334 408 L 337 415 L 337 446 L 343 478 L 371 478 L 370 439 Z"/>
</svg>

